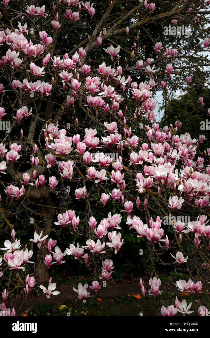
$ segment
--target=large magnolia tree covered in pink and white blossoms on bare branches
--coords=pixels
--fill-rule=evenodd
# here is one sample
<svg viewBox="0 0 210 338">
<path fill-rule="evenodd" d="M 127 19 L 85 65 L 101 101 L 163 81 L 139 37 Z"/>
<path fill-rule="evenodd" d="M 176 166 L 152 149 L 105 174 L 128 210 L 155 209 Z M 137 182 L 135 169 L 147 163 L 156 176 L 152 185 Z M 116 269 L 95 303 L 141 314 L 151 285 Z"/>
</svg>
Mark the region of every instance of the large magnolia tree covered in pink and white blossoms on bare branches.
<svg viewBox="0 0 210 338">
<path fill-rule="evenodd" d="M 58 294 L 49 271 L 68 256 L 98 274 L 93 292 L 106 287 L 124 229 L 148 250 L 149 294 L 161 294 L 157 264 L 175 264 L 190 278 L 177 287 L 201 294 L 197 315 L 208 315 L 210 149 L 184 121 L 156 123 L 155 94 L 167 117 L 175 90 L 207 88 L 209 4 L 3 0 L 0 315 L 15 315 L 5 303 L 16 289 Z M 73 289 L 85 303 L 88 284 Z M 190 307 L 176 298 L 161 314 Z"/>
</svg>

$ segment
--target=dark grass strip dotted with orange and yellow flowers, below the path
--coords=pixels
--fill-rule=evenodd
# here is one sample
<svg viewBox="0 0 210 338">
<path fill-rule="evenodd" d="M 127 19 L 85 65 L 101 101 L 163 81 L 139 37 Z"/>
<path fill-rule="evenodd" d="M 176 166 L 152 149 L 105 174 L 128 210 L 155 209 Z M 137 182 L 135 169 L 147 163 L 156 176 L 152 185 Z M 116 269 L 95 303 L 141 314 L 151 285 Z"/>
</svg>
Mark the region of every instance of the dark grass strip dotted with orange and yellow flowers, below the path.
<svg viewBox="0 0 210 338">
<path fill-rule="evenodd" d="M 190 311 L 194 311 L 187 316 L 198 316 L 199 295 L 186 294 L 184 292 L 163 292 L 162 299 L 164 300 L 164 306 L 175 305 L 176 296 L 180 301 L 186 299 L 187 305 L 192 302 Z M 209 294 L 202 294 L 202 297 L 206 303 L 207 308 L 210 307 Z M 201 300 L 201 305 L 203 305 Z M 30 315 L 37 316 L 161 316 L 160 310 L 163 306 L 163 302 L 160 296 L 153 297 L 146 295 L 128 294 L 127 296 L 120 296 L 113 299 L 101 299 L 95 295 L 95 297 L 87 298 L 86 303 L 83 303 L 81 299 L 75 299 L 73 303 L 58 304 L 56 307 L 52 307 L 48 303 L 37 303 Z M 181 313 L 177 313 L 176 316 L 182 316 Z"/>
</svg>

